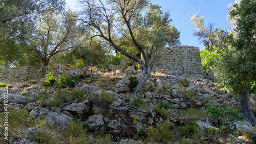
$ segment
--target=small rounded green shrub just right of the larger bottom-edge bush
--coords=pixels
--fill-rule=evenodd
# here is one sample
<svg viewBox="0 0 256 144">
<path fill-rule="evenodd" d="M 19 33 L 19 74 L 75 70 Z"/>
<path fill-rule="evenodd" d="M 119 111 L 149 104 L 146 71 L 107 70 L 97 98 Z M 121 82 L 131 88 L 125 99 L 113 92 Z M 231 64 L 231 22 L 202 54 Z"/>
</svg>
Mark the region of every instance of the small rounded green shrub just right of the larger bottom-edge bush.
<svg viewBox="0 0 256 144">
<path fill-rule="evenodd" d="M 198 127 L 196 125 L 186 124 L 181 130 L 181 137 L 192 137 L 194 134 L 199 132 Z"/>
</svg>

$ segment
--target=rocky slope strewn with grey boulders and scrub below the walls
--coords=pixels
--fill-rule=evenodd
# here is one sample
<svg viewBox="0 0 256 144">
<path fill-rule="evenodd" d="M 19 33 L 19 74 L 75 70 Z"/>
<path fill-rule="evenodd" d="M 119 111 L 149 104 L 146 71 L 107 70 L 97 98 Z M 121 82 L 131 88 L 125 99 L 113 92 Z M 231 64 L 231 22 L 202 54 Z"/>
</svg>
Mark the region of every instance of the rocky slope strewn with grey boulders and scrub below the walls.
<svg viewBox="0 0 256 144">
<path fill-rule="evenodd" d="M 8 110 L 25 110 L 28 119 L 22 119 L 22 124 L 11 123 L 8 141 L 2 138 L 1 143 L 47 143 L 39 136 L 34 138 L 42 133 L 51 134 L 55 143 L 224 143 L 226 137 L 227 143 L 253 143 L 251 137 L 255 136 L 256 127 L 247 121 L 224 122 L 205 113 L 207 106 L 231 107 L 238 115 L 241 112 L 239 97 L 221 89 L 214 81 L 156 73 L 150 76 L 143 94 L 137 98 L 127 86 L 130 76 L 139 79 L 141 73 L 132 67 L 114 73 L 96 73 L 93 82 L 86 78 L 75 88 L 65 88 L 67 98 L 71 97 L 71 91 L 79 89 L 84 92 L 83 98 L 63 99 L 56 106 L 51 100 L 63 89 L 43 86 L 39 80 L 8 85 Z M 44 93 L 49 97 L 44 97 Z M 0 95 L 2 123 L 4 90 L 0 90 Z M 252 94 L 254 110 L 255 101 L 256 95 Z M 77 135 L 67 135 L 73 122 L 86 129 L 84 141 L 79 142 Z M 223 122 L 228 126 L 226 133 L 219 128 Z M 165 125 L 165 129 L 161 128 Z M 195 127 L 194 131 L 186 131 L 188 126 Z M 1 135 L 3 131 L 1 126 Z M 168 135 L 157 138 L 164 133 Z"/>
</svg>

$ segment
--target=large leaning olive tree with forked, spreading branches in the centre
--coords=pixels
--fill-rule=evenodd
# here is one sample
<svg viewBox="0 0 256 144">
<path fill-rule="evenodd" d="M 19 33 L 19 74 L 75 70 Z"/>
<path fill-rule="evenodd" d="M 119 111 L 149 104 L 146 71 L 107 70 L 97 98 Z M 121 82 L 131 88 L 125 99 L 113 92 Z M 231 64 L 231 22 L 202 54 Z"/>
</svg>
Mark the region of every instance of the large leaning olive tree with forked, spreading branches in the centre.
<svg viewBox="0 0 256 144">
<path fill-rule="evenodd" d="M 79 1 L 82 11 L 76 17 L 84 27 L 93 27 L 97 34 L 116 51 L 138 62 L 142 77 L 137 86 L 137 92 L 143 89 L 152 66 L 161 48 L 167 44 L 168 37 L 164 30 L 171 19 L 169 13 L 160 10 L 160 6 L 149 4 L 148 0 L 101 0 Z M 144 8 L 147 8 L 142 15 Z M 123 40 L 118 40 L 123 37 Z M 142 59 L 121 48 L 122 45 L 132 45 L 141 52 Z"/>
</svg>

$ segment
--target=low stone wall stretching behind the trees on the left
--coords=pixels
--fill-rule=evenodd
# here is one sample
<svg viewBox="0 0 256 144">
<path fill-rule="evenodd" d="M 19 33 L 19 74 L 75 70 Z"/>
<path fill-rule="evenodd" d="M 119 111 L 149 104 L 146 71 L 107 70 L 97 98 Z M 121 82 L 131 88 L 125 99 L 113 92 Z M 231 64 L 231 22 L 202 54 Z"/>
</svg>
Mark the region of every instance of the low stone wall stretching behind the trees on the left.
<svg viewBox="0 0 256 144">
<path fill-rule="evenodd" d="M 47 66 L 46 74 L 49 71 L 54 72 L 55 77 L 59 74 L 63 74 L 68 70 L 74 70 L 77 73 L 83 74 L 83 68 L 73 67 L 69 64 L 55 64 L 50 63 Z M 36 80 L 39 79 L 41 76 L 41 69 L 36 70 L 32 67 L 27 65 L 15 67 L 15 68 L 5 68 L 0 70 L 0 82 L 4 82 L 7 84 L 19 82 L 19 81 L 28 81 L 28 80 Z"/>
</svg>

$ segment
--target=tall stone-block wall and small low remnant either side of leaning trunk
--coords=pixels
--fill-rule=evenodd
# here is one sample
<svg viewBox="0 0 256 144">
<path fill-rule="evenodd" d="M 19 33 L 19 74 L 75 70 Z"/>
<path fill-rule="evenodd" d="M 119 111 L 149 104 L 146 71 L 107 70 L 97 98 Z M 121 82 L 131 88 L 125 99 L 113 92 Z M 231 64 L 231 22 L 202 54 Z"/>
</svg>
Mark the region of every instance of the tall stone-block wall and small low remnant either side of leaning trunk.
<svg viewBox="0 0 256 144">
<path fill-rule="evenodd" d="M 199 47 L 194 46 L 172 46 L 165 47 L 162 57 L 154 64 L 152 72 L 163 72 L 174 76 L 204 78 Z M 110 70 L 120 69 L 125 66 L 110 65 Z"/>
</svg>

